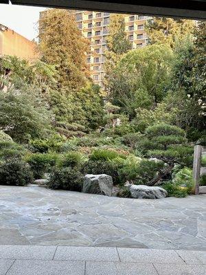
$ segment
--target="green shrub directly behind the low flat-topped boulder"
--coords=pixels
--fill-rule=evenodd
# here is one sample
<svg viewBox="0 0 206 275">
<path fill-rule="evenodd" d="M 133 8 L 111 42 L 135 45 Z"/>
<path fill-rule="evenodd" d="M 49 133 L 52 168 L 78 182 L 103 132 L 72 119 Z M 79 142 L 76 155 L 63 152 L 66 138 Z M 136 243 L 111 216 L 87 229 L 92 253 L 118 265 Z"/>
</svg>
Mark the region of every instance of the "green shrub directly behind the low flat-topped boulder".
<svg viewBox="0 0 206 275">
<path fill-rule="evenodd" d="M 125 163 L 121 170 L 121 177 L 124 181 L 133 181 L 133 184 L 149 184 L 164 168 L 163 162 L 154 162 L 148 159 L 137 159 L 130 163 Z"/>
</svg>

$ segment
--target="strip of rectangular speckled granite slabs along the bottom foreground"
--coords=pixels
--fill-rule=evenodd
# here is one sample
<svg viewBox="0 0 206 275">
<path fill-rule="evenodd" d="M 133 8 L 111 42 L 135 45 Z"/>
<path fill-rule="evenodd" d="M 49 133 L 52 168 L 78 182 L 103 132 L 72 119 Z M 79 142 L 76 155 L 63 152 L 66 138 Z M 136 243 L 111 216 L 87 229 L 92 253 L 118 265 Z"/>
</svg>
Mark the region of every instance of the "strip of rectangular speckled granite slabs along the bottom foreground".
<svg viewBox="0 0 206 275">
<path fill-rule="evenodd" d="M 0 275 L 205 275 L 188 250 L 0 245 Z"/>
</svg>

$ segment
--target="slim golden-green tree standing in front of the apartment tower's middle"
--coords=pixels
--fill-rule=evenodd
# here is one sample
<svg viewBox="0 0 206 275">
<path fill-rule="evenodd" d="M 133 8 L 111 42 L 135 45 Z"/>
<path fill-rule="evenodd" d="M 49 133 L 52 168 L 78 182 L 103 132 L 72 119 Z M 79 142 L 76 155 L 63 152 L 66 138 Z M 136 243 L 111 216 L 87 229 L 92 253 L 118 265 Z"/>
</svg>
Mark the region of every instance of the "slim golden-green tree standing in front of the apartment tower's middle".
<svg viewBox="0 0 206 275">
<path fill-rule="evenodd" d="M 108 77 L 112 74 L 117 62 L 122 55 L 132 48 L 125 32 L 125 20 L 123 14 L 111 14 L 110 24 L 108 26 L 109 35 L 106 39 L 107 51 L 105 52 L 106 70 L 104 84 L 107 86 Z"/>
</svg>

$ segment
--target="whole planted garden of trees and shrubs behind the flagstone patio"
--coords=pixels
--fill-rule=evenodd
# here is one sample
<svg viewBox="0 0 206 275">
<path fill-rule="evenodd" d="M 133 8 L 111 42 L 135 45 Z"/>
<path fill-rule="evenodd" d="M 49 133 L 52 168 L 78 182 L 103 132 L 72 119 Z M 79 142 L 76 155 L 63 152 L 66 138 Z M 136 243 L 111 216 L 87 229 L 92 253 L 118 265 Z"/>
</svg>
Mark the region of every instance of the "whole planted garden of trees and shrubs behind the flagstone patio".
<svg viewBox="0 0 206 275">
<path fill-rule="evenodd" d="M 85 175 L 105 174 L 117 197 L 132 197 L 133 185 L 192 194 L 194 145 L 206 142 L 205 22 L 157 18 L 149 45 L 131 50 L 115 14 L 101 89 L 73 17 L 49 10 L 42 20 L 39 60 L 0 61 L 0 184 L 46 179 L 45 188 L 81 192 Z"/>
</svg>

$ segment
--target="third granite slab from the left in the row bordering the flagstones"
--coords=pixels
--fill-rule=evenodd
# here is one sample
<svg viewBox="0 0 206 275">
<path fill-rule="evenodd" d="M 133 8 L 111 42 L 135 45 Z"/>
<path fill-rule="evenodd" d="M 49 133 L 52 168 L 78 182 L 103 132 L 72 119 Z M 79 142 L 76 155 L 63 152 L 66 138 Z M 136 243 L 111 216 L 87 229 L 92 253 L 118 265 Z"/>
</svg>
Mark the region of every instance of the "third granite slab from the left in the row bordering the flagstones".
<svg viewBox="0 0 206 275">
<path fill-rule="evenodd" d="M 117 248 L 120 261 L 135 263 L 182 263 L 185 262 L 174 250 L 150 250 Z"/>
</svg>

